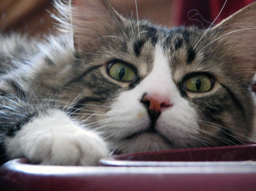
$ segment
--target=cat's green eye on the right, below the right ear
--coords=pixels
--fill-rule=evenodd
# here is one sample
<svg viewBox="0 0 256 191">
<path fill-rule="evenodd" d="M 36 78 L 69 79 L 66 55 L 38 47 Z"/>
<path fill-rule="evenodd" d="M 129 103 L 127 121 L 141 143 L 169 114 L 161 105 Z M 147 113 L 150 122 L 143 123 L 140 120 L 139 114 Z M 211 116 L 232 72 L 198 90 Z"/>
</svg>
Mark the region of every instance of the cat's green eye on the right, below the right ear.
<svg viewBox="0 0 256 191">
<path fill-rule="evenodd" d="M 194 92 L 206 92 L 212 88 L 212 80 L 204 74 L 189 77 L 185 84 L 189 91 Z"/>
</svg>

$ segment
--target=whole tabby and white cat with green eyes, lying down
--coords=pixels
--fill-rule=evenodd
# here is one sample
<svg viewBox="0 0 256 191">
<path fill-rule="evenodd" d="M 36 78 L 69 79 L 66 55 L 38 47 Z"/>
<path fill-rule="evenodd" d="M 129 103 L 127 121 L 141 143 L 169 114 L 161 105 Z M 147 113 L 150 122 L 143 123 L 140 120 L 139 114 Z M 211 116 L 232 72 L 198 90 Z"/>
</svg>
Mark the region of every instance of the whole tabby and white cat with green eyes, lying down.
<svg viewBox="0 0 256 191">
<path fill-rule="evenodd" d="M 256 3 L 208 29 L 125 18 L 107 0 L 55 6 L 58 35 L 1 35 L 1 163 L 255 141 Z"/>
</svg>

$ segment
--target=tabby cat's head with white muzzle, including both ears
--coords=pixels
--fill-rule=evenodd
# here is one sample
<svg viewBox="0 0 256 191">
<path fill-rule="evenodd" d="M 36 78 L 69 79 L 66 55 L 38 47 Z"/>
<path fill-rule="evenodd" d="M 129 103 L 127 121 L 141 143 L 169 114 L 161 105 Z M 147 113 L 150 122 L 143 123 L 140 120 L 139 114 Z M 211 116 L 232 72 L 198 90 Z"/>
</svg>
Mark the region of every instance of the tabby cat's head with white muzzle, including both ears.
<svg viewBox="0 0 256 191">
<path fill-rule="evenodd" d="M 86 123 L 112 149 L 254 137 L 256 3 L 207 30 L 124 18 L 104 0 L 72 3 L 77 77 L 66 84 L 63 99 L 78 96 L 75 108 L 90 114 Z"/>
</svg>

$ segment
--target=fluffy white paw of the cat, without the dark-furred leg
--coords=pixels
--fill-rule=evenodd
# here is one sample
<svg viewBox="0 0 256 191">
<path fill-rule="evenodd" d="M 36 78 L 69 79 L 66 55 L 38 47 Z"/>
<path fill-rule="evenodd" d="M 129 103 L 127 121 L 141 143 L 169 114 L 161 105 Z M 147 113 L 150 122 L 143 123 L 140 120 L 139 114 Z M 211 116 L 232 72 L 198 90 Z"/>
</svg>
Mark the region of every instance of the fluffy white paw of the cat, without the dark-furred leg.
<svg viewBox="0 0 256 191">
<path fill-rule="evenodd" d="M 7 142 L 11 158 L 25 155 L 32 162 L 50 165 L 95 166 L 108 152 L 102 138 L 56 110 L 24 125 Z"/>
</svg>

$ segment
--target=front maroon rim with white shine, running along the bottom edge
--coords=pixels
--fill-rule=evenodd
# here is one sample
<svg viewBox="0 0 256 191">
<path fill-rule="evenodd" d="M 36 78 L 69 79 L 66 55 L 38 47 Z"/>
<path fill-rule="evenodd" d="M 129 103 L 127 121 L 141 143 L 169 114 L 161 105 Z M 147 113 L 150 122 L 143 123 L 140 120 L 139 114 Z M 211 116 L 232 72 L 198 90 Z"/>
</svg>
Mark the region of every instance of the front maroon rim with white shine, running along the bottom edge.
<svg viewBox="0 0 256 191">
<path fill-rule="evenodd" d="M 255 191 L 256 166 L 59 167 L 13 160 L 0 167 L 2 191 L 172 190 Z"/>
</svg>

